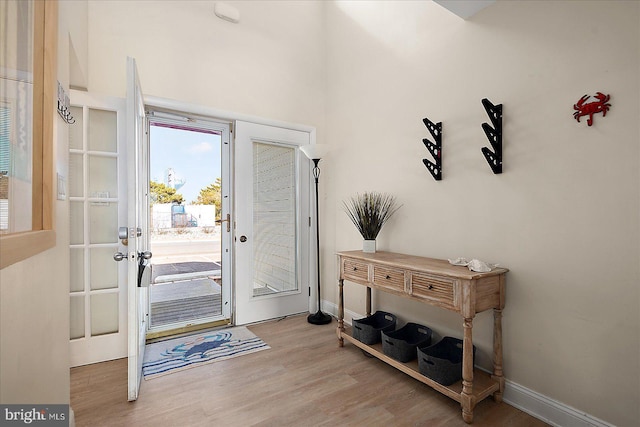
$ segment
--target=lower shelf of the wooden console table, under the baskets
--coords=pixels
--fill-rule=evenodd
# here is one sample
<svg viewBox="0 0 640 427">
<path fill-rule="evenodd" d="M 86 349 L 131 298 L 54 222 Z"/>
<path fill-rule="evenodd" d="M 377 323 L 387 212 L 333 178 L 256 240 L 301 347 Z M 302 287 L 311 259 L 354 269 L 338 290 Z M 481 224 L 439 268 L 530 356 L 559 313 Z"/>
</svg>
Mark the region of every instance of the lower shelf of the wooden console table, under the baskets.
<svg viewBox="0 0 640 427">
<path fill-rule="evenodd" d="M 450 397 L 458 403 L 462 403 L 462 381 L 458 381 L 448 386 L 442 385 L 432 380 L 431 378 L 422 375 L 418 370 L 417 360 L 412 360 L 411 362 L 407 363 L 399 362 L 383 353 L 382 344 L 367 345 L 353 338 L 353 336 L 351 335 L 351 328 L 345 327 L 345 331 L 341 331 L 340 328 L 338 328 L 337 333 L 338 338 L 343 338 L 346 341 L 349 341 L 356 347 L 361 348 L 370 355 L 382 360 L 383 362 L 393 366 L 396 369 L 399 369 L 400 371 L 420 381 L 421 383 L 432 387 L 433 389 L 439 391 L 445 396 Z M 471 392 L 473 406 L 475 406 L 475 404 L 480 402 L 481 400 L 491 396 L 496 391 L 499 391 L 499 389 L 500 385 L 496 380 L 491 378 L 491 375 L 478 369 L 473 370 L 473 390 Z"/>
</svg>

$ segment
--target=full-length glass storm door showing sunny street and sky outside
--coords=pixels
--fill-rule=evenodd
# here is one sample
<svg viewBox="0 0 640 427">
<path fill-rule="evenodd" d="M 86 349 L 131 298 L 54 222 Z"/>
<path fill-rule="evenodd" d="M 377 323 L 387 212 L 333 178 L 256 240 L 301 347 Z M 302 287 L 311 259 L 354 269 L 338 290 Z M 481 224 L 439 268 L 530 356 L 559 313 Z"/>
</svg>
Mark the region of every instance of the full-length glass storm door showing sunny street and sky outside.
<svg viewBox="0 0 640 427">
<path fill-rule="evenodd" d="M 229 132 L 226 124 L 161 112 L 151 112 L 149 121 L 155 336 L 230 319 L 223 268 Z"/>
</svg>

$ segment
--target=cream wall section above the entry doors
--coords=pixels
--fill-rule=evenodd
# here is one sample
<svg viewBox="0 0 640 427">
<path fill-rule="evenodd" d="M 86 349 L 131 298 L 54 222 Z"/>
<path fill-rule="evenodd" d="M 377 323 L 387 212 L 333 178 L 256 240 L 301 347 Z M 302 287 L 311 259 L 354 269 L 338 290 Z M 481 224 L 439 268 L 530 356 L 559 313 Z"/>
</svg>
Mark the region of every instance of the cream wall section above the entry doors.
<svg viewBox="0 0 640 427">
<path fill-rule="evenodd" d="M 90 90 L 124 96 L 131 56 L 145 95 L 313 124 L 320 134 L 322 4 L 226 3 L 240 23 L 217 18 L 212 1 L 90 1 Z"/>
</svg>

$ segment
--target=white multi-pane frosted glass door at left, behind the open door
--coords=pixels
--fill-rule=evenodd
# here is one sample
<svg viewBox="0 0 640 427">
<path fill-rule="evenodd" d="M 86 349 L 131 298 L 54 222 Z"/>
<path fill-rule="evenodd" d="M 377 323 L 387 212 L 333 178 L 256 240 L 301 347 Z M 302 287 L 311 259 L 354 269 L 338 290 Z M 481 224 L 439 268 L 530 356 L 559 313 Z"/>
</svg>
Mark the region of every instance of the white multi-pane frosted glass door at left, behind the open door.
<svg viewBox="0 0 640 427">
<path fill-rule="evenodd" d="M 69 243 L 71 366 L 127 356 L 124 99 L 71 91 Z M 125 248 L 123 250 L 123 248 Z"/>
</svg>

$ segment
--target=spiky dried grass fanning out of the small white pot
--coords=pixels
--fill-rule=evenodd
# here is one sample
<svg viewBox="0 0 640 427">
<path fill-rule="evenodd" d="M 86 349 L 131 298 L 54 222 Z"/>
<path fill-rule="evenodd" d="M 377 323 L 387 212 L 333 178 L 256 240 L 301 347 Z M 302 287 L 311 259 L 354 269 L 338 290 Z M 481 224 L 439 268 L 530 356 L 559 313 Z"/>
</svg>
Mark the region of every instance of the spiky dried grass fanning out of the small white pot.
<svg viewBox="0 0 640 427">
<path fill-rule="evenodd" d="M 379 192 L 356 194 L 343 205 L 364 240 L 375 240 L 382 226 L 402 207 L 395 196 Z"/>
</svg>

